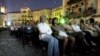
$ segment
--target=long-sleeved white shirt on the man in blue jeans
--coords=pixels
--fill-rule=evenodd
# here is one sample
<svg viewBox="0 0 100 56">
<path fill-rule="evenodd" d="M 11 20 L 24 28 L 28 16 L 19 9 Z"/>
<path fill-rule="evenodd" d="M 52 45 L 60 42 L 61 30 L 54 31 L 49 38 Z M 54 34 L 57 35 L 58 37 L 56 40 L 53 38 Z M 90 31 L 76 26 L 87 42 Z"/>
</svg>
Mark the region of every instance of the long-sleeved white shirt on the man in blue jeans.
<svg viewBox="0 0 100 56">
<path fill-rule="evenodd" d="M 49 35 L 52 34 L 52 30 L 50 26 L 46 23 L 39 23 L 37 27 L 38 27 L 38 30 L 40 31 L 40 35 L 39 35 L 40 39 L 43 39 L 46 36 L 46 34 L 49 34 Z"/>
</svg>

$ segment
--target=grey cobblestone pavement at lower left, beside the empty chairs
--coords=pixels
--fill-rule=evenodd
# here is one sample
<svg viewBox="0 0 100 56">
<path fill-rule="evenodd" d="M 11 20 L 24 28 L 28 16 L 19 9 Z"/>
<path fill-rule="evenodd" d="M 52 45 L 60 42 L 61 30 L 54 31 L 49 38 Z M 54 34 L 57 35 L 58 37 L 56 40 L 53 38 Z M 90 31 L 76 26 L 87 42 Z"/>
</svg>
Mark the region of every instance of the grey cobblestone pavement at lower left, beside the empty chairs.
<svg viewBox="0 0 100 56">
<path fill-rule="evenodd" d="M 15 37 L 11 37 L 8 31 L 0 33 L 0 56 L 45 56 L 41 48 L 25 46 Z"/>
</svg>

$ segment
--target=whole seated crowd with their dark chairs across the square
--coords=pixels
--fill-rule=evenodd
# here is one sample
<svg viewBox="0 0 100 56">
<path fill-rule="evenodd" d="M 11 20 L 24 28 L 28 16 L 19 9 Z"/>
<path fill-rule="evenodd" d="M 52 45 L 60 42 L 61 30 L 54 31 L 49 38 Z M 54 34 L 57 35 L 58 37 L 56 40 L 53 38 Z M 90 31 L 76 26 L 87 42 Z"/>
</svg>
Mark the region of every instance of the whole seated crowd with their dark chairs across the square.
<svg viewBox="0 0 100 56">
<path fill-rule="evenodd" d="M 100 40 L 100 26 L 93 18 L 90 20 L 80 20 L 77 24 L 76 19 L 73 19 L 69 24 L 59 24 L 57 18 L 53 18 L 50 23 L 46 22 L 46 16 L 40 17 L 40 22 L 32 24 L 13 25 L 10 27 L 11 35 L 23 37 L 30 46 L 35 39 L 42 40 L 48 43 L 47 56 L 66 56 L 66 47 L 70 42 L 69 53 L 73 54 L 73 49 L 76 46 L 84 45 L 94 50 Z M 60 48 L 61 46 L 61 48 Z M 61 51 L 60 51 L 61 49 Z"/>
</svg>

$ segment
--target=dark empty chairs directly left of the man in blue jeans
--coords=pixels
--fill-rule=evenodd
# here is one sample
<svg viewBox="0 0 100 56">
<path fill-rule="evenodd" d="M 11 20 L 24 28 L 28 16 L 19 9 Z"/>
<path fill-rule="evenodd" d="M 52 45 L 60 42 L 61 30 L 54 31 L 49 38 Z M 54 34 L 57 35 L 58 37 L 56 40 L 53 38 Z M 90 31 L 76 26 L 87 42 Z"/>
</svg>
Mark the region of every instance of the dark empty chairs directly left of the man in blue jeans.
<svg viewBox="0 0 100 56">
<path fill-rule="evenodd" d="M 39 31 L 36 27 L 31 29 L 31 32 L 27 32 L 28 29 L 18 28 L 18 30 L 14 31 L 14 35 L 22 41 L 23 46 L 29 41 L 32 41 L 33 45 L 35 44 L 37 47 L 41 47 L 43 50 L 47 49 L 47 42 L 39 40 Z M 29 40 L 30 38 L 30 40 Z"/>
</svg>

